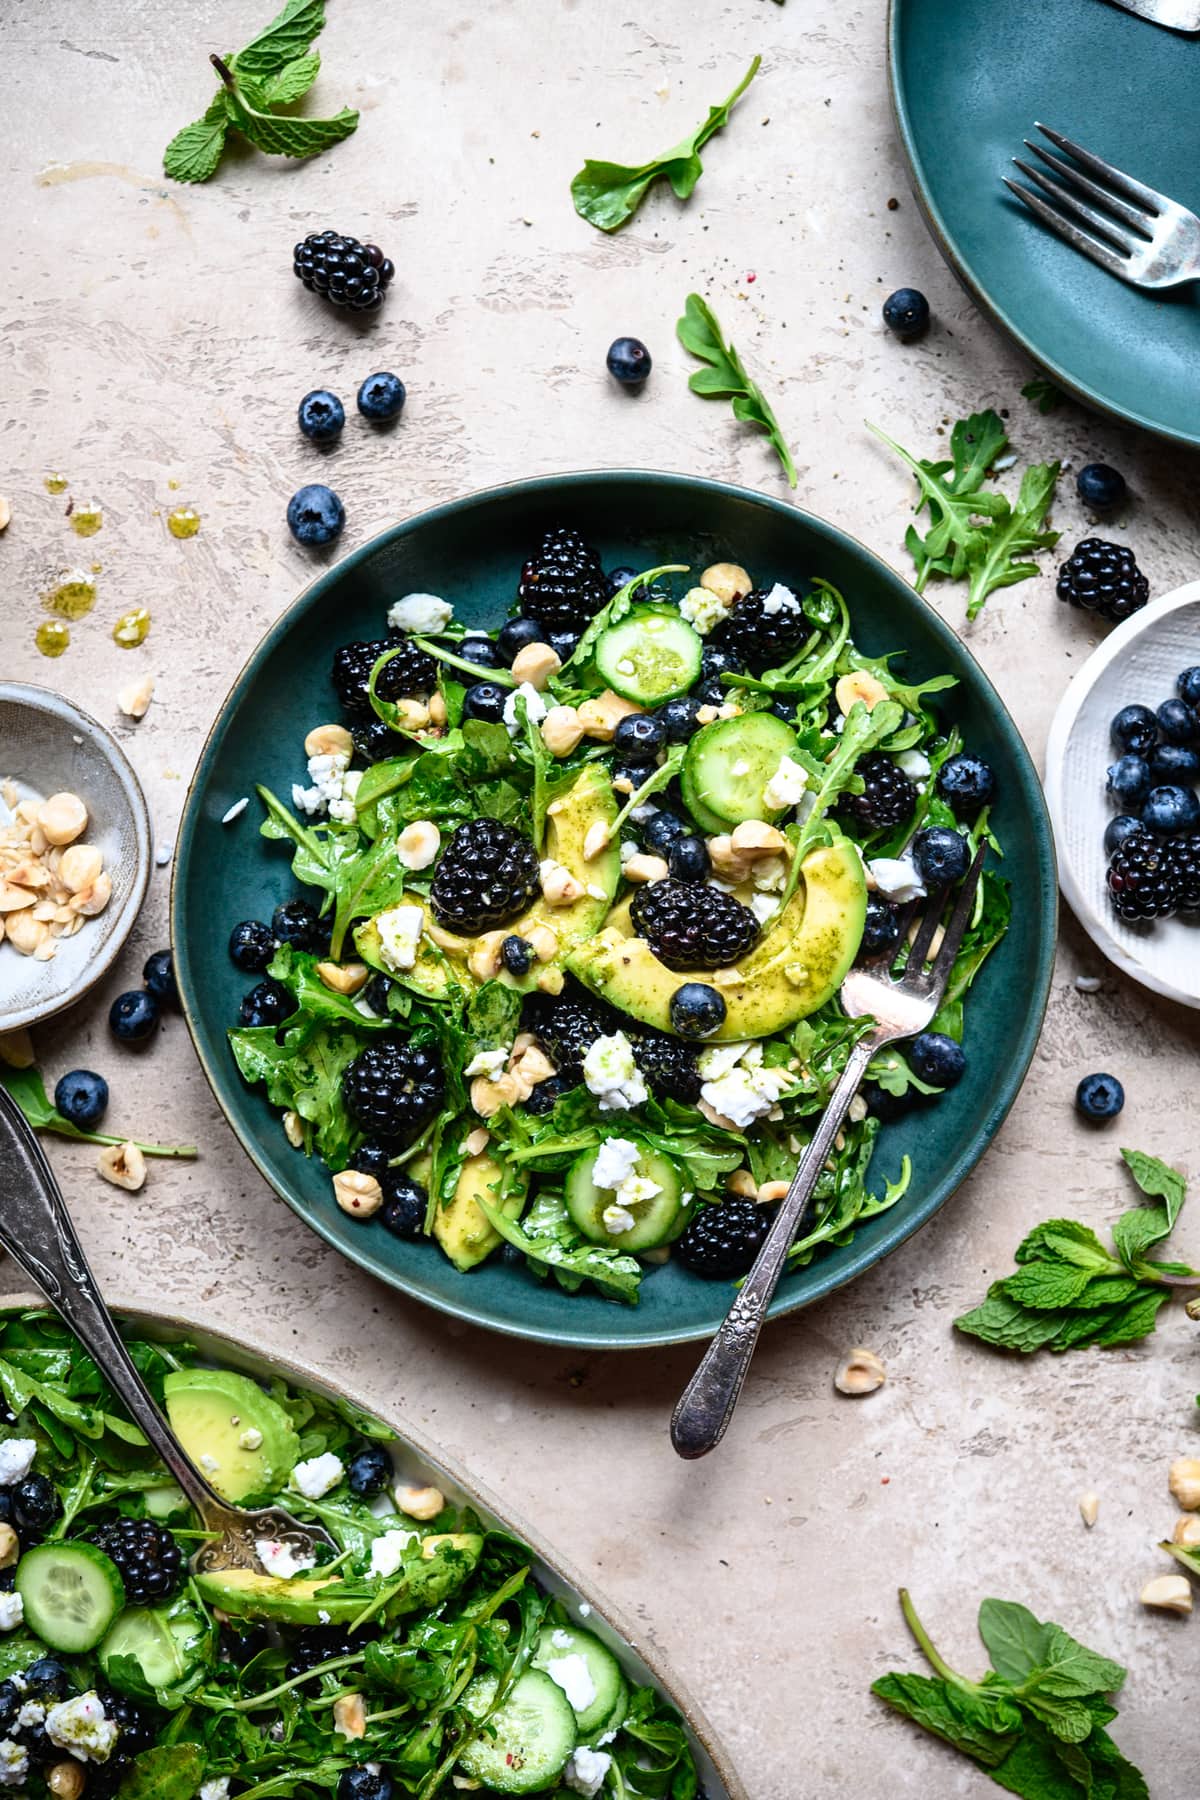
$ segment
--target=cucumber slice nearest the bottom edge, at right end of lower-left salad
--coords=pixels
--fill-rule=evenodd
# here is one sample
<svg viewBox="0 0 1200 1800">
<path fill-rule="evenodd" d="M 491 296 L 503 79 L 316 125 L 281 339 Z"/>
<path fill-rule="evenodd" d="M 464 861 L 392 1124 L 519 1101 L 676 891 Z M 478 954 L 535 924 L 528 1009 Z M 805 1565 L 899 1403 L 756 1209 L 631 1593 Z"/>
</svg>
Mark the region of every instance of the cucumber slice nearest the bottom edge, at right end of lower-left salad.
<svg viewBox="0 0 1200 1800">
<path fill-rule="evenodd" d="M 475 1676 L 462 1710 L 482 1719 L 498 1676 Z M 497 1795 L 533 1795 L 551 1787 L 570 1762 L 579 1733 L 563 1690 L 540 1669 L 516 1678 L 504 1705 L 491 1714 L 475 1742 L 459 1757 L 459 1769 Z"/>
</svg>

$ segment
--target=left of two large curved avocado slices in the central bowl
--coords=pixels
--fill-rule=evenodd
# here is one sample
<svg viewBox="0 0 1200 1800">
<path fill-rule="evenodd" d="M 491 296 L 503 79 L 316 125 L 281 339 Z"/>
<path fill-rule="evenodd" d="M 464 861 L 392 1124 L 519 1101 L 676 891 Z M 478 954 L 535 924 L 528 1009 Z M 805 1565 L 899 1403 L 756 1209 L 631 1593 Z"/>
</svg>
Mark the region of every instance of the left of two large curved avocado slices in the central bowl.
<svg viewBox="0 0 1200 1800">
<path fill-rule="evenodd" d="M 612 783 L 599 765 L 588 765 L 574 787 L 551 805 L 554 812 L 547 814 L 545 821 L 543 857 L 561 862 L 583 884 L 583 893 L 570 905 L 547 905 L 542 898 L 534 900 L 527 913 L 506 927 L 506 934 L 527 938 L 536 925 L 547 925 L 558 938 L 560 954 L 554 961 L 561 961 L 576 943 L 585 943 L 604 923 L 621 878 L 621 846 L 613 841 L 599 857 L 590 860 L 583 857 L 583 844 L 592 826 L 597 823 L 612 824 L 617 817 Z M 603 893 L 599 896 L 588 893 L 590 887 Z M 394 905 L 421 905 L 425 909 L 425 936 L 414 967 L 399 976 L 387 967 L 380 954 L 380 932 L 372 918 L 354 932 L 354 947 L 363 963 L 369 963 L 371 968 L 381 968 L 383 974 L 434 1001 L 446 999 L 453 986 L 471 986 L 475 977 L 470 974 L 466 959 L 477 940 L 443 931 L 419 895 L 407 895 Z M 502 970 L 498 979 L 507 986 L 529 990 L 538 985 L 540 972 L 542 965 L 534 963 L 527 976 L 511 976 Z"/>
</svg>

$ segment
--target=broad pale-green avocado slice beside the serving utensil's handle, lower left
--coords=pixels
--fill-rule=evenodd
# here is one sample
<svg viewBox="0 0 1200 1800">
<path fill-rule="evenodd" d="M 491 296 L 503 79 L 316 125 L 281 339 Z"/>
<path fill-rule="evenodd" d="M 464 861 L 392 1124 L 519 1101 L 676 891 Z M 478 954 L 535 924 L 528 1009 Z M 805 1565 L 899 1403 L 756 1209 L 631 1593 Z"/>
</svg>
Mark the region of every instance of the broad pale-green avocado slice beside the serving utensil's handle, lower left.
<svg viewBox="0 0 1200 1800">
<path fill-rule="evenodd" d="M 300 1440 L 277 1400 L 228 1368 L 175 1368 L 164 1381 L 176 1438 L 221 1499 L 264 1505 L 300 1458 Z M 254 1449 L 243 1436 L 261 1436 Z"/>
</svg>

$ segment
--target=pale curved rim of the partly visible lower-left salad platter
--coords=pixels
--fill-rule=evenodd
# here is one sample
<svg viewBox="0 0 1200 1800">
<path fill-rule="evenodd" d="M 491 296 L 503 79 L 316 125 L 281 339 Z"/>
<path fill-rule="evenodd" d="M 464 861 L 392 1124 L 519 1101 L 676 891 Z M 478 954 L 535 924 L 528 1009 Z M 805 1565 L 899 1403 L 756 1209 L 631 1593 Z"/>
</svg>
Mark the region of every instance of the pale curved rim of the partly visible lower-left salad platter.
<svg viewBox="0 0 1200 1800">
<path fill-rule="evenodd" d="M 232 1350 L 234 1357 L 264 1363 L 272 1370 L 282 1373 L 288 1381 L 293 1381 L 297 1386 L 315 1388 L 327 1399 L 349 1400 L 349 1404 L 360 1413 L 380 1418 L 396 1433 L 399 1444 L 416 1451 L 421 1463 L 435 1474 L 448 1476 L 452 1485 L 479 1501 L 482 1512 L 491 1514 L 493 1521 L 507 1530 L 513 1530 L 522 1543 L 533 1550 L 534 1557 L 543 1562 L 558 1580 L 563 1582 L 563 1586 L 570 1588 L 576 1595 L 579 1595 L 579 1598 L 587 1600 L 592 1606 L 592 1611 L 597 1613 L 604 1624 L 613 1627 L 626 1645 L 642 1660 L 642 1663 L 646 1663 L 646 1669 L 666 1699 L 680 1710 L 696 1737 L 696 1742 L 703 1748 L 720 1780 L 725 1784 L 729 1800 L 750 1800 L 748 1789 L 736 1775 L 729 1755 L 725 1753 L 725 1746 L 698 1701 L 675 1674 L 664 1672 L 664 1661 L 657 1643 L 653 1642 L 653 1634 L 644 1631 L 639 1633 L 628 1613 L 622 1607 L 613 1606 L 608 1595 L 596 1586 L 590 1575 L 583 1575 L 574 1562 L 563 1557 L 558 1550 L 551 1548 L 542 1532 L 534 1530 L 520 1512 L 515 1512 L 507 1503 L 500 1501 L 500 1498 L 493 1494 L 491 1487 L 480 1481 L 473 1471 L 453 1456 L 453 1453 L 446 1451 L 441 1444 L 434 1444 L 434 1440 L 428 1438 L 419 1426 L 408 1424 L 396 1411 L 392 1402 L 380 1406 L 374 1400 L 365 1400 L 356 1390 L 345 1388 L 340 1381 L 335 1381 L 324 1370 L 315 1368 L 302 1355 L 295 1355 L 288 1350 L 266 1348 L 263 1343 L 254 1337 L 245 1337 L 241 1332 L 228 1332 L 223 1327 L 205 1325 L 201 1319 L 189 1318 L 182 1312 L 162 1312 L 157 1307 L 148 1307 L 142 1300 L 124 1301 L 121 1298 L 106 1296 L 106 1303 L 110 1312 L 121 1321 L 135 1323 L 139 1328 L 149 1327 L 151 1332 L 182 1332 L 198 1339 L 209 1339 Z M 0 1318 L 9 1312 L 31 1310 L 45 1312 L 63 1323 L 61 1314 L 56 1312 L 45 1294 L 5 1294 L 0 1298 Z M 67 1328 L 70 1330 L 70 1327 Z"/>
</svg>

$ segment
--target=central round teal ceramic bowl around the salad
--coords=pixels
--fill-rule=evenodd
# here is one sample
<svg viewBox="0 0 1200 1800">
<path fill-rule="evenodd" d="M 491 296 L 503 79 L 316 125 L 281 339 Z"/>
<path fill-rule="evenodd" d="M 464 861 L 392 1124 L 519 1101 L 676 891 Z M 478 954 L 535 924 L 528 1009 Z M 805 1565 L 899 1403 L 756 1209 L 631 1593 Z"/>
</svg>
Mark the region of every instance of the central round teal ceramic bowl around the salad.
<svg viewBox="0 0 1200 1800">
<path fill-rule="evenodd" d="M 380 634 L 383 612 L 410 590 L 443 594 L 459 619 L 495 626 L 529 545 L 556 520 L 574 520 L 606 567 L 741 562 L 763 578 L 824 576 L 851 601 L 855 637 L 869 652 L 907 652 L 912 680 L 950 671 L 943 715 L 997 769 L 995 824 L 1015 887 L 1013 927 L 990 958 L 968 1008 L 968 1073 L 928 1112 L 885 1127 L 874 1183 L 905 1152 L 909 1195 L 853 1244 L 784 1276 L 772 1312 L 793 1312 L 871 1269 L 903 1244 L 975 1166 L 1007 1112 L 1033 1057 L 1051 979 L 1056 875 L 1051 828 L 1029 754 L 979 664 L 914 590 L 846 533 L 810 513 L 741 488 L 658 473 L 554 475 L 437 506 L 392 526 L 320 574 L 272 626 L 221 707 L 180 824 L 171 940 L 184 1012 L 221 1105 L 248 1156 L 279 1195 L 360 1267 L 443 1312 L 493 1330 L 590 1348 L 640 1348 L 709 1337 L 730 1300 L 676 1264 L 642 1285 L 639 1307 L 565 1294 L 522 1267 L 493 1260 L 459 1274 L 432 1244 L 403 1244 L 340 1213 L 322 1165 L 290 1148 L 261 1089 L 243 1084 L 227 1044 L 250 985 L 228 959 L 230 927 L 268 918 L 293 891 L 284 846 L 259 837 L 257 803 L 234 824 L 228 808 L 255 783 L 290 792 L 302 740 L 331 711 L 329 661 L 338 644 Z"/>
</svg>

